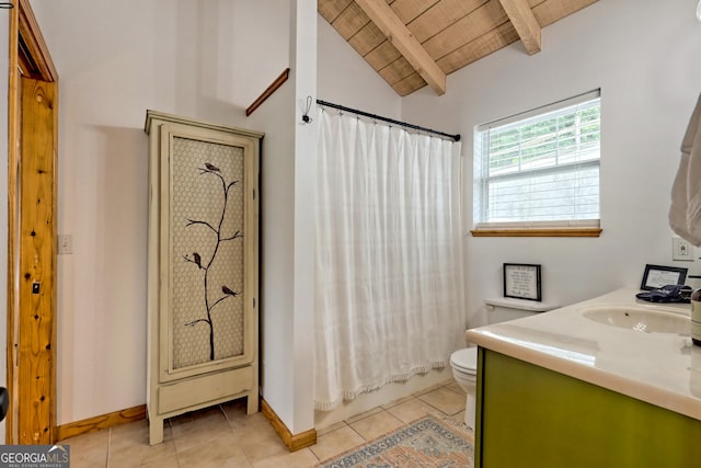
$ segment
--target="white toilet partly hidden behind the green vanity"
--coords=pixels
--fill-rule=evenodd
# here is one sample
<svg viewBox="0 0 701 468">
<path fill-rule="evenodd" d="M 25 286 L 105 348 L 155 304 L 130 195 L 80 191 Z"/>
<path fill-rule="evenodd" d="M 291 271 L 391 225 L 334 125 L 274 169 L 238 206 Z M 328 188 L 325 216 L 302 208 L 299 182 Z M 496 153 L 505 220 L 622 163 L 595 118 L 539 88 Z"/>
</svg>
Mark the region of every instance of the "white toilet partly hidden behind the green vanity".
<svg viewBox="0 0 701 468">
<path fill-rule="evenodd" d="M 522 319 L 558 308 L 558 306 L 545 303 L 519 301 L 518 299 L 485 299 L 484 303 L 487 305 L 487 322 L 490 324 Z M 468 393 L 464 406 L 464 423 L 474 429 L 478 349 L 464 347 L 452 353 L 450 367 L 452 367 L 452 377 Z"/>
</svg>

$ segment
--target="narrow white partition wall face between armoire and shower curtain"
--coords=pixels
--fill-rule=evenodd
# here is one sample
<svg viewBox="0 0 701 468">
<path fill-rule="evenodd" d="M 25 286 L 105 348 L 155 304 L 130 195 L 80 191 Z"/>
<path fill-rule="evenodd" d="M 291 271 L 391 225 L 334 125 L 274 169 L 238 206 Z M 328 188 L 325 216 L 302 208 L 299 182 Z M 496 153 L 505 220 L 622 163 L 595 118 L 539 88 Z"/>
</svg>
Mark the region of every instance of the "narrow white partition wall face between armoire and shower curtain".
<svg viewBox="0 0 701 468">
<path fill-rule="evenodd" d="M 261 386 L 275 412 L 292 419 L 295 378 L 294 340 L 295 269 L 295 83 L 288 80 L 251 115 L 265 132 L 261 159 Z"/>
</svg>

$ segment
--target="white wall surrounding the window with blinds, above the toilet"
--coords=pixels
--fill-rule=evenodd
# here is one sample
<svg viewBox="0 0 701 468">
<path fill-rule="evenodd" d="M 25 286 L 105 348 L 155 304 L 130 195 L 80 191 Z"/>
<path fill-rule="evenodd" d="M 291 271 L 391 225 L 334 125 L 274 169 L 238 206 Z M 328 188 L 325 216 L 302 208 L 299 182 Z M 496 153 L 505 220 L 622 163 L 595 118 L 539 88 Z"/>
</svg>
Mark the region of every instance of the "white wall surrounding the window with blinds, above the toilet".
<svg viewBox="0 0 701 468">
<path fill-rule="evenodd" d="M 679 146 L 701 91 L 696 1 L 599 1 L 542 32 L 542 52 L 515 44 L 448 77 L 438 98 L 403 100 L 403 117 L 463 137 L 468 323 L 502 296 L 502 264 L 542 264 L 543 300 L 561 305 L 637 287 L 646 263 L 671 261 L 669 191 Z M 472 238 L 475 125 L 601 88 L 601 227 L 595 239 Z M 690 282 L 692 286 L 698 283 Z"/>
</svg>

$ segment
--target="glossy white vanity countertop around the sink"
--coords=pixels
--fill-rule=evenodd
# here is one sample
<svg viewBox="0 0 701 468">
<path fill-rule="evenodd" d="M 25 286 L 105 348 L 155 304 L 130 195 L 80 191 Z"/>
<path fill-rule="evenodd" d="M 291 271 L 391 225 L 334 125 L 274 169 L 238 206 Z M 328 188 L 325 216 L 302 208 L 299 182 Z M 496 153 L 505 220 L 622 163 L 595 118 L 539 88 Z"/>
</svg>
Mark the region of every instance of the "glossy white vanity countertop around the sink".
<svg viewBox="0 0 701 468">
<path fill-rule="evenodd" d="M 689 304 L 651 304 L 613 293 L 509 322 L 470 329 L 469 342 L 701 420 L 701 346 L 683 334 L 595 322 L 588 306 L 636 306 L 690 316 Z M 691 320 L 689 320 L 691 322 Z"/>
</svg>

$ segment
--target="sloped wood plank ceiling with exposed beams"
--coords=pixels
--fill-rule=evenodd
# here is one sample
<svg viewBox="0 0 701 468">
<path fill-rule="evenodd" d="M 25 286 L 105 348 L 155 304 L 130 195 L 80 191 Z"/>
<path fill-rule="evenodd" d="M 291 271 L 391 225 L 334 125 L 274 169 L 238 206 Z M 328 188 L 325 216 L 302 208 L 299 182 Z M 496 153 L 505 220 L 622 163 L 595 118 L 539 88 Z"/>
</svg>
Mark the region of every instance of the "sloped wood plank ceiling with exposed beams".
<svg viewBox="0 0 701 468">
<path fill-rule="evenodd" d="M 318 0 L 319 13 L 400 95 L 516 41 L 541 50 L 540 32 L 597 0 Z M 547 44 L 544 45 L 547 47 Z"/>
</svg>

